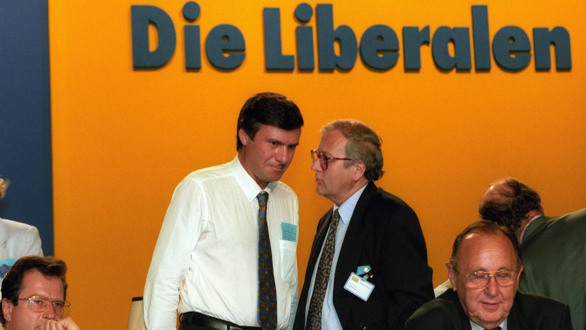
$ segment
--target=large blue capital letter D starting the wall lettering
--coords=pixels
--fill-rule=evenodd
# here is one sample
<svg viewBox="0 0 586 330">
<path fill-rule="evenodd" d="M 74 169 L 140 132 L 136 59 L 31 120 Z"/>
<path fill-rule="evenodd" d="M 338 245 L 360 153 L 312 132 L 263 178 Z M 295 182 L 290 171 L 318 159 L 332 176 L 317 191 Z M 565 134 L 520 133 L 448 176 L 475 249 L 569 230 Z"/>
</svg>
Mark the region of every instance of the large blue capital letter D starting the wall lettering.
<svg viewBox="0 0 586 330">
<path fill-rule="evenodd" d="M 132 64 L 134 67 L 161 67 L 175 53 L 175 26 L 163 9 L 149 5 L 133 5 Z M 159 34 L 159 44 L 149 52 L 148 25 L 153 23 Z"/>
</svg>

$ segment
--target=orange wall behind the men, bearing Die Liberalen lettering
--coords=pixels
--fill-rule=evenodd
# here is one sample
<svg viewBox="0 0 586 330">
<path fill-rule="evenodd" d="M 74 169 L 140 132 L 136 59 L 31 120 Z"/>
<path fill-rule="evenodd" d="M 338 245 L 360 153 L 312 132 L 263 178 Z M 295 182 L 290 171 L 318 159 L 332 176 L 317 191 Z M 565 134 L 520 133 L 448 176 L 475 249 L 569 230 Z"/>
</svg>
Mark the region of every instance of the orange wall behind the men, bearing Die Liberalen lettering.
<svg viewBox="0 0 586 330">
<path fill-rule="evenodd" d="M 318 218 L 331 202 L 316 195 L 309 149 L 319 127 L 356 118 L 383 138 L 386 175 L 377 182 L 420 217 L 434 284 L 455 235 L 478 216 L 489 182 L 514 176 L 538 189 L 550 215 L 586 200 L 586 33 L 583 1 L 487 1 L 490 35 L 505 25 L 564 26 L 573 69 L 517 73 L 492 62 L 489 73 L 440 72 L 421 47 L 419 73 L 403 57 L 380 73 L 357 60 L 350 72 L 264 70 L 265 6 L 281 8 L 283 51 L 294 54 L 295 1 L 198 1 L 195 24 L 205 36 L 230 23 L 246 39 L 247 56 L 232 72 L 202 56 L 186 72 L 181 15 L 171 0 L 49 1 L 53 125 L 55 255 L 69 266 L 72 317 L 84 330 L 125 329 L 130 298 L 142 295 L 152 251 L 173 189 L 189 172 L 230 161 L 236 118 L 258 91 L 294 100 L 305 118 L 297 156 L 282 178 L 299 196 L 299 277 L 303 278 Z M 472 28 L 471 1 L 332 1 L 335 25 L 358 39 L 366 28 Z M 178 31 L 175 55 L 158 70 L 132 69 L 130 6 L 164 9 Z M 314 26 L 314 18 L 309 24 Z M 359 39 L 360 40 L 360 39 Z M 401 45 L 402 49 L 402 45 Z M 301 283 L 302 284 L 302 283 Z"/>
</svg>

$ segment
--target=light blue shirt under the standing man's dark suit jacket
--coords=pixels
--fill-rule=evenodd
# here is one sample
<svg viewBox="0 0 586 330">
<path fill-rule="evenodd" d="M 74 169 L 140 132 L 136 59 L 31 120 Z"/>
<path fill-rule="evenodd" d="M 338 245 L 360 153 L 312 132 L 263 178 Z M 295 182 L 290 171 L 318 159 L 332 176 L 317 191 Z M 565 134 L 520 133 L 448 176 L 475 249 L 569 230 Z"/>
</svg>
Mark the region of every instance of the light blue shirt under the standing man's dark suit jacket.
<svg viewBox="0 0 586 330">
<path fill-rule="evenodd" d="M 354 213 L 354 209 L 356 207 L 356 203 L 362 195 L 362 192 L 366 188 L 364 185 L 360 190 L 354 193 L 354 195 L 350 196 L 349 199 L 346 199 L 345 202 L 340 205 L 340 207 L 334 205 L 333 211 L 336 209 L 340 215 L 340 221 L 338 222 L 338 228 L 336 229 L 336 239 L 334 243 L 334 250 L 333 250 L 333 259 L 332 259 L 332 270 L 330 271 L 329 280 L 328 280 L 328 288 L 326 288 L 326 295 L 323 298 L 323 307 L 322 307 L 322 330 L 341 330 L 342 325 L 340 324 L 340 319 L 338 318 L 338 314 L 336 314 L 336 309 L 333 307 L 333 279 L 334 275 L 336 274 L 336 265 L 338 264 L 338 257 L 340 256 L 340 250 L 342 249 L 342 243 L 344 241 L 344 237 L 346 236 L 346 230 L 348 229 L 348 224 L 350 223 L 350 219 L 352 219 L 352 213 Z M 328 227 L 329 231 L 329 227 Z M 326 233 L 327 236 L 327 233 Z M 327 238 L 327 237 L 326 237 Z M 309 312 L 309 302 L 311 302 L 311 296 L 314 293 L 314 284 L 315 284 L 315 275 L 318 271 L 319 260 L 322 257 L 323 252 L 323 245 L 325 244 L 326 239 L 323 240 L 322 243 L 322 250 L 319 253 L 318 261 L 315 263 L 314 267 L 314 274 L 311 277 L 311 284 L 309 284 L 309 293 L 307 295 L 307 303 L 305 305 L 305 324 L 307 324 L 307 315 Z M 348 277 L 350 274 L 348 274 Z"/>
</svg>

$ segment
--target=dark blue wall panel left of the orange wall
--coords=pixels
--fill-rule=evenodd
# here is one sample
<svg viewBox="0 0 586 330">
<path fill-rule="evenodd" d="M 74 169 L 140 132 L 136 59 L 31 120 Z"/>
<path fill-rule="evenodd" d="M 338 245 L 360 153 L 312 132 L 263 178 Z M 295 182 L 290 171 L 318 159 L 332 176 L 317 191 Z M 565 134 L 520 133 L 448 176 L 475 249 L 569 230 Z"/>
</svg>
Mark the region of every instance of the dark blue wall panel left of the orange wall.
<svg viewBox="0 0 586 330">
<path fill-rule="evenodd" d="M 0 217 L 39 229 L 53 255 L 47 1 L 0 1 Z"/>
</svg>

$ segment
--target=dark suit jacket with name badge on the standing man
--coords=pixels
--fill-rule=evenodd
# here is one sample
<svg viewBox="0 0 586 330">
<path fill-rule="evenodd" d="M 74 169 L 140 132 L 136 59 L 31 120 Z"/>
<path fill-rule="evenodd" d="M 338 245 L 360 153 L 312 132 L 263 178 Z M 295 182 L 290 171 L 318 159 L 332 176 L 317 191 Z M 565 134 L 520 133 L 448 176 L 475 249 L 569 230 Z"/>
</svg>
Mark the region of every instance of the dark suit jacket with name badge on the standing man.
<svg viewBox="0 0 586 330">
<path fill-rule="evenodd" d="M 294 330 L 305 328 L 309 285 L 331 219 L 332 209 L 319 220 Z M 350 273 L 364 265 L 372 268 L 369 281 L 374 284 L 367 301 L 344 288 Z M 434 298 L 431 273 L 415 212 L 403 200 L 368 183 L 348 224 L 334 275 L 333 304 L 342 328 L 403 329 L 406 319 Z"/>
</svg>

